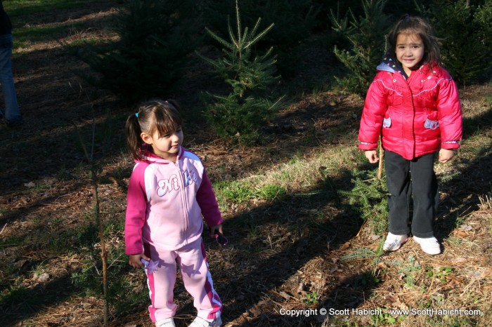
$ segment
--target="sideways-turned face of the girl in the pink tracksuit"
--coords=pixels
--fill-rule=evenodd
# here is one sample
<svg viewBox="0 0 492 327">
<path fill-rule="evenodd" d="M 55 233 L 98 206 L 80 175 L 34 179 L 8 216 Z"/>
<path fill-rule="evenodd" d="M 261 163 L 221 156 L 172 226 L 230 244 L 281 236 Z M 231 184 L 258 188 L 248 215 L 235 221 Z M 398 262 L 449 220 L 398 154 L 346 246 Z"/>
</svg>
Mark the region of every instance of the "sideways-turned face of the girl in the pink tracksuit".
<svg viewBox="0 0 492 327">
<path fill-rule="evenodd" d="M 176 162 L 179 147 L 183 143 L 183 130 L 181 127 L 176 131 L 171 131 L 162 137 L 159 136 L 159 131 L 155 131 L 153 135 L 141 133 L 143 142 L 152 146 L 154 154 L 162 159 Z"/>
</svg>

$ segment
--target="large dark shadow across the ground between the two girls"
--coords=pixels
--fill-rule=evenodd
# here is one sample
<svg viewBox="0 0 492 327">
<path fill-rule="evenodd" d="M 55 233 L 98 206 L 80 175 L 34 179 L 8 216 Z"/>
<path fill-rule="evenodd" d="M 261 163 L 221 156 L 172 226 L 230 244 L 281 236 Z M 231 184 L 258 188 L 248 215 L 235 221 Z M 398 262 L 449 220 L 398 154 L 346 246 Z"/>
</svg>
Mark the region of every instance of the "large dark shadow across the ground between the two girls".
<svg viewBox="0 0 492 327">
<path fill-rule="evenodd" d="M 362 226 L 354 213 L 331 215 L 338 199 L 332 185 L 349 187 L 348 171 L 337 180 L 324 180 L 305 194 L 292 194 L 247 210 L 224 222 L 231 248 L 224 248 L 213 272 L 214 285 L 224 301 L 223 321 L 242 321 L 240 326 L 273 326 L 274 312 L 264 312 L 258 302 L 269 291 L 283 286 L 313 258 L 338 248 Z M 273 233 L 276 229 L 278 233 Z M 213 258 L 214 255 L 212 255 Z M 292 296 L 296 290 L 290 290 Z M 193 315 L 188 305 L 179 313 Z M 242 317 L 252 314 L 252 319 Z M 264 324 L 268 321 L 270 324 Z M 273 324 L 273 325 L 271 325 Z"/>
</svg>

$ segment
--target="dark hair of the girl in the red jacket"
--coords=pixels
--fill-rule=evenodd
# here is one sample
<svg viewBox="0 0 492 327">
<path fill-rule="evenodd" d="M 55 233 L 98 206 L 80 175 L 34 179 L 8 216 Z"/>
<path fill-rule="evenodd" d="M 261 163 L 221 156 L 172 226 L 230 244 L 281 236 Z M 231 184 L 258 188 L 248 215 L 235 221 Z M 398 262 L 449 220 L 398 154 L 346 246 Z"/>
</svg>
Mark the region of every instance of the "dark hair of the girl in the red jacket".
<svg viewBox="0 0 492 327">
<path fill-rule="evenodd" d="M 396 39 L 399 34 L 417 34 L 424 42 L 424 58 L 421 64 L 441 65 L 439 39 L 434 34 L 434 29 L 423 18 L 403 15 L 388 34 L 387 53 L 396 51 Z"/>
</svg>

